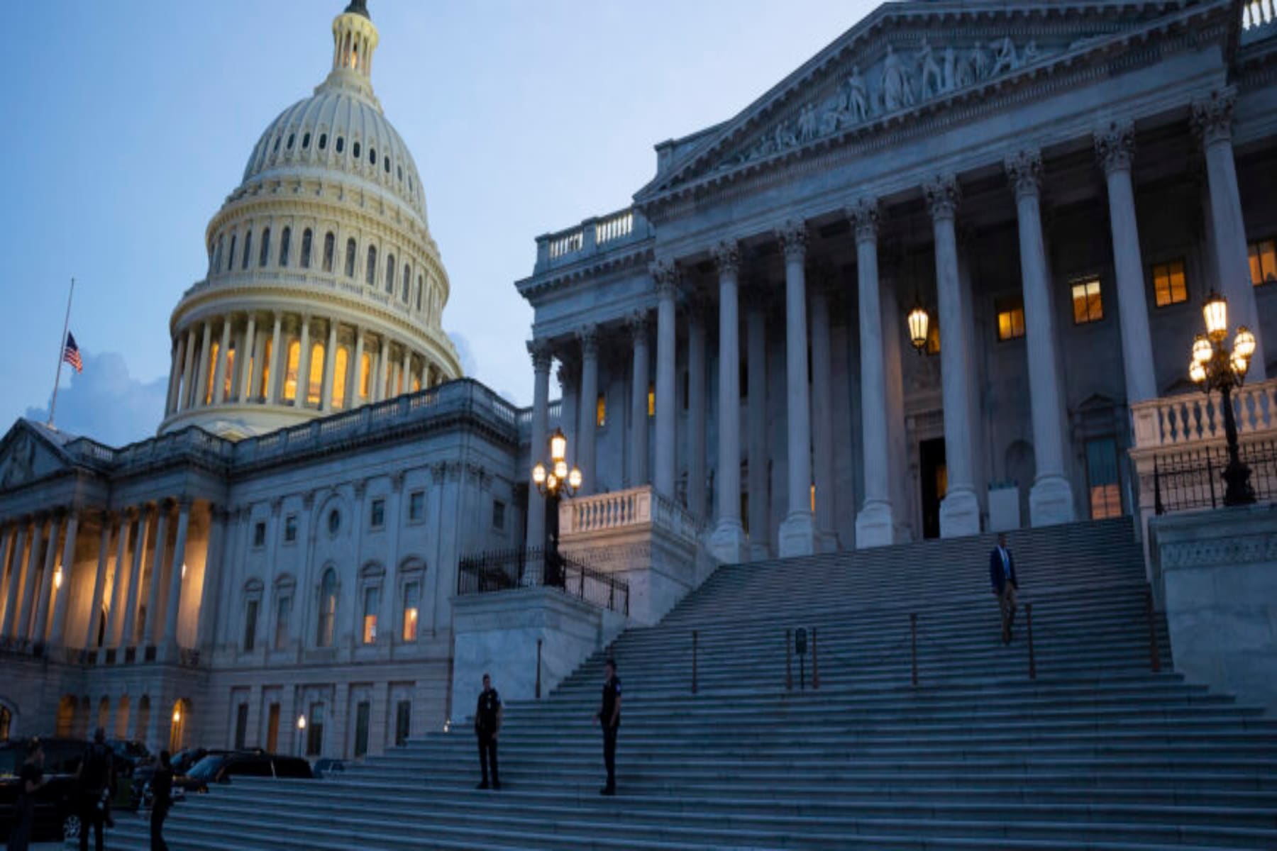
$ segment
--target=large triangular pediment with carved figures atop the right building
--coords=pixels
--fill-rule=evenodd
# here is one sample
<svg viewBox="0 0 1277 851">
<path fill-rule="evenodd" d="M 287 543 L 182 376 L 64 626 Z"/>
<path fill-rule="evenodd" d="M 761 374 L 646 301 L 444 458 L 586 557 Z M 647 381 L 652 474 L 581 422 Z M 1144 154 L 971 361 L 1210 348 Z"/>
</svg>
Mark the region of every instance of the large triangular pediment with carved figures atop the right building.
<svg viewBox="0 0 1277 851">
<path fill-rule="evenodd" d="M 670 143 L 672 156 L 635 200 L 642 205 L 937 111 L 960 119 L 992 93 L 1108 61 L 1125 41 L 1184 31 L 1230 8 L 1227 0 L 885 4 L 734 119 Z"/>
</svg>

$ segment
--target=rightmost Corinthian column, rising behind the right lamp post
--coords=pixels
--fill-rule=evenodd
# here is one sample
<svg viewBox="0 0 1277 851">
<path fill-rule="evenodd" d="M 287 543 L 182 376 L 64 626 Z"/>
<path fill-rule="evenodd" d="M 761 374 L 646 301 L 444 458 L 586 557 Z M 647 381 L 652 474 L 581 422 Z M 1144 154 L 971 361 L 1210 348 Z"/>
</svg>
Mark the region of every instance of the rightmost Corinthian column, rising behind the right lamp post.
<svg viewBox="0 0 1277 851">
<path fill-rule="evenodd" d="M 1255 287 L 1250 282 L 1237 167 L 1232 159 L 1232 106 L 1236 100 L 1237 91 L 1231 85 L 1212 92 L 1211 97 L 1193 103 L 1193 122 L 1205 149 L 1214 259 L 1220 270 L 1220 288 L 1228 299 L 1228 322 L 1234 327 L 1245 325 L 1255 336 L 1255 355 L 1250 359 L 1249 376 L 1251 381 L 1263 381 L 1267 378 L 1264 338 L 1259 333 L 1259 309 L 1255 305 Z"/>
</svg>

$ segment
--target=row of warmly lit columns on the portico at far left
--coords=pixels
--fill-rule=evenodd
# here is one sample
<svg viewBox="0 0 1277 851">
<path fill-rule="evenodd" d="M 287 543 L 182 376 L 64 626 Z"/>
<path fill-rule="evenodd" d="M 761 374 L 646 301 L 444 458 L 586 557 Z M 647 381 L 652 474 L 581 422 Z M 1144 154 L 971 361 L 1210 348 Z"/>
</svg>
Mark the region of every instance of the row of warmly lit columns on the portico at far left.
<svg viewBox="0 0 1277 851">
<path fill-rule="evenodd" d="M 178 614 L 181 607 L 181 581 L 186 564 L 192 504 L 188 498 L 166 499 L 158 507 L 147 503 L 119 514 L 101 513 L 97 565 L 88 579 L 92 582 L 92 602 L 84 639 L 86 651 L 97 648 L 97 635 L 103 629 L 102 643 L 106 648 L 156 646 L 157 638 L 161 637 L 156 632 L 156 614 L 160 611 L 161 595 L 165 595 L 163 647 L 166 657 L 176 652 Z M 169 523 L 174 519 L 174 509 L 176 509 L 176 535 L 170 550 Z M 0 538 L 4 558 L 0 561 L 0 579 L 3 579 L 0 605 L 4 606 L 4 614 L 0 616 L 0 637 L 32 644 L 56 647 L 65 644 L 68 598 L 77 583 L 77 536 L 86 514 L 84 509 L 73 508 L 47 515 L 37 514 L 8 524 Z M 156 526 L 153 537 L 152 521 Z M 111 533 L 116 527 L 119 531 L 115 569 L 109 579 Z M 60 540 L 63 546 L 59 561 L 56 555 Z M 132 549 L 128 546 L 130 540 Z M 146 574 L 144 568 L 148 568 Z M 109 587 L 110 600 L 107 600 Z M 143 605 L 146 620 L 138 635 L 137 618 Z M 109 619 L 105 626 L 103 607 Z"/>
</svg>

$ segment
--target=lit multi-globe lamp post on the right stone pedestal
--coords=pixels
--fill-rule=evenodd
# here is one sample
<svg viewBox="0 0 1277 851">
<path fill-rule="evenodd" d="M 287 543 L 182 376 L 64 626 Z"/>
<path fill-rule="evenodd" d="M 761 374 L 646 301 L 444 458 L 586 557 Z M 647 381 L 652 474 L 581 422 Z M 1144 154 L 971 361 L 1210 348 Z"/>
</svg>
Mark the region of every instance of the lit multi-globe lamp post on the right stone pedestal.
<svg viewBox="0 0 1277 851">
<path fill-rule="evenodd" d="M 1228 464 L 1223 468 L 1223 504 L 1249 505 L 1255 501 L 1250 487 L 1250 467 L 1237 450 L 1237 420 L 1232 413 L 1232 390 L 1240 388 L 1255 353 L 1255 336 L 1245 325 L 1237 327 L 1231 351 L 1227 348 L 1228 301 L 1212 292 L 1202 306 L 1205 333 L 1193 339 L 1189 378 L 1209 396 L 1218 390 L 1223 402 L 1223 435 L 1228 443 Z"/>
</svg>

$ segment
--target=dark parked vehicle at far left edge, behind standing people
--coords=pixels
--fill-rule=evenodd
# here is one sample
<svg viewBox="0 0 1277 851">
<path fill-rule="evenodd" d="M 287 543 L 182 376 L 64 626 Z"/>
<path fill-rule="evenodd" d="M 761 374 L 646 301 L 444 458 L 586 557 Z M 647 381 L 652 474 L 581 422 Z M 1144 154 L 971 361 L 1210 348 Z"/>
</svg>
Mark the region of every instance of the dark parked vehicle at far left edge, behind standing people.
<svg viewBox="0 0 1277 851">
<path fill-rule="evenodd" d="M 79 837 L 75 772 L 88 743 L 83 739 L 41 739 L 45 750 L 45 785 L 36 794 L 36 828 L 32 840 L 56 842 Z M 0 744 L 0 841 L 6 841 L 17 818 L 22 787 L 18 771 L 27 759 L 27 743 Z"/>
</svg>

